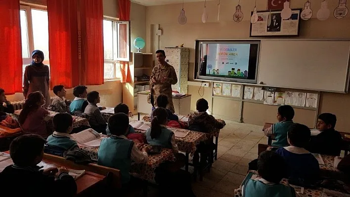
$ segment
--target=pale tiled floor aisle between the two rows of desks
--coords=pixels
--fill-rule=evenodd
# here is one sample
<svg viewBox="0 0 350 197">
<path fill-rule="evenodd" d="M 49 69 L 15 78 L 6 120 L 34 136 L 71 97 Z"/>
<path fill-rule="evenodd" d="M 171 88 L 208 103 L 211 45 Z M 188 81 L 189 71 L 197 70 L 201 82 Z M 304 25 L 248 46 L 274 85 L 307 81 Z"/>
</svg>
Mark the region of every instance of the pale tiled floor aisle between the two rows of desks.
<svg viewBox="0 0 350 197">
<path fill-rule="evenodd" d="M 248 162 L 258 158 L 258 143 L 267 144 L 262 126 L 225 122 L 219 134 L 218 160 L 203 181 L 192 184 L 197 197 L 232 197 L 247 174 Z"/>
</svg>

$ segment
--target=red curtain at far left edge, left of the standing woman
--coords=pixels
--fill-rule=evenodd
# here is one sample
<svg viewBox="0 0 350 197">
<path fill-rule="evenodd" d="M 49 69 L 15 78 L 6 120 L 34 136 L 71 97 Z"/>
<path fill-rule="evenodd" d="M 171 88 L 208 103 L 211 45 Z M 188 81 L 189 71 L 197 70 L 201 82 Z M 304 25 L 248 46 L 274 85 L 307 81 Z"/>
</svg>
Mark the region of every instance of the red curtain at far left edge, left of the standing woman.
<svg viewBox="0 0 350 197">
<path fill-rule="evenodd" d="M 6 94 L 22 92 L 22 43 L 19 0 L 0 0 L 0 88 Z M 28 49 L 27 49 L 28 50 Z"/>
</svg>

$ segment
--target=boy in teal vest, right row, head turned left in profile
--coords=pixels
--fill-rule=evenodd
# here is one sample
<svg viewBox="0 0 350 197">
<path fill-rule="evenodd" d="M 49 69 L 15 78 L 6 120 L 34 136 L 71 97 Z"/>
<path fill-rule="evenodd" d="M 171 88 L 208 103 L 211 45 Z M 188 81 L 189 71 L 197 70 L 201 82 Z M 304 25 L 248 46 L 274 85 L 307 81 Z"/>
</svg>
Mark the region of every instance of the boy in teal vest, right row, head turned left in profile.
<svg viewBox="0 0 350 197">
<path fill-rule="evenodd" d="M 289 105 L 282 105 L 277 111 L 277 123 L 271 125 L 271 127 L 264 130 L 266 136 L 275 135 L 275 142 L 273 146 L 284 147 L 288 146 L 287 132 L 289 126 L 291 126 L 294 118 L 294 109 Z"/>
</svg>

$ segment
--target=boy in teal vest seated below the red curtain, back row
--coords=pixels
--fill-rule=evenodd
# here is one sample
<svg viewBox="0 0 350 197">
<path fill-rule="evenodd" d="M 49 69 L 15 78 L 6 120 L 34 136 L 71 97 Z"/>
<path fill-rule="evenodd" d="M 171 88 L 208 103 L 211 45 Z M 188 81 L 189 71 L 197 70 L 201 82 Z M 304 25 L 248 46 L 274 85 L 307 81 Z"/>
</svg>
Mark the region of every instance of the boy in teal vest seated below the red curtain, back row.
<svg viewBox="0 0 350 197">
<path fill-rule="evenodd" d="M 76 112 L 80 114 L 84 113 L 85 108 L 88 106 L 88 101 L 85 100 L 88 94 L 87 89 L 88 87 L 85 85 L 78 85 L 74 87 L 73 95 L 75 98 L 69 106 L 71 114 L 74 115 Z"/>
</svg>

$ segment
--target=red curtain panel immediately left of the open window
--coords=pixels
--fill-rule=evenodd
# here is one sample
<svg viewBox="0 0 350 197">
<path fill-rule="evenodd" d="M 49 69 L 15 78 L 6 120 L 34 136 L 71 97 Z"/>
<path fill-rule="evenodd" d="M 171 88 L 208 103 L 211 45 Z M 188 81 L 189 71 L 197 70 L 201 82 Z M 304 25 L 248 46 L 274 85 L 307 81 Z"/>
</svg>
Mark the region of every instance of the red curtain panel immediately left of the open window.
<svg viewBox="0 0 350 197">
<path fill-rule="evenodd" d="M 103 84 L 103 1 L 80 0 L 82 79 L 86 85 Z"/>
</svg>

